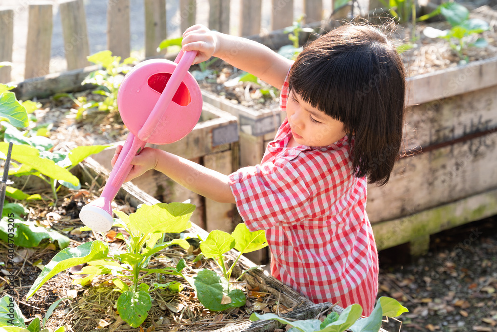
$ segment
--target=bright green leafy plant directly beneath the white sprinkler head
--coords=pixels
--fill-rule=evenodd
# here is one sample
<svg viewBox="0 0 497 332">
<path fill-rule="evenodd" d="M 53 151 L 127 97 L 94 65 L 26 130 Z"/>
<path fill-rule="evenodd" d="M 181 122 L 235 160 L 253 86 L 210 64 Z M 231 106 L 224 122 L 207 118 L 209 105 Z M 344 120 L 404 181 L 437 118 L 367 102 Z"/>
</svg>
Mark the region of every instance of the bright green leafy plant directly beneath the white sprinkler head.
<svg viewBox="0 0 497 332">
<path fill-rule="evenodd" d="M 70 267 L 88 263 L 83 267 L 81 274 L 88 276 L 80 280 L 87 284 L 97 275 L 112 274 L 112 282 L 121 292 L 117 299 L 116 307 L 121 318 L 132 327 L 140 326 L 147 318 L 147 313 L 152 305 L 150 292 L 172 287 L 179 290 L 177 283 L 153 284 L 143 283 L 142 279 L 150 274 L 163 273 L 181 276 L 182 269 L 186 266 L 184 259 L 176 267 L 162 269 L 148 269 L 150 258 L 160 250 L 170 246 L 179 245 L 187 249 L 190 244 L 186 239 L 174 239 L 163 242 L 163 233 L 181 233 L 191 227 L 189 221 L 195 210 L 192 204 L 183 203 L 158 203 L 155 205 L 142 205 L 135 213 L 126 215 L 117 212 L 120 220 L 114 226 L 122 227 L 130 235 L 124 237 L 118 233 L 116 238 L 126 242 L 126 251 L 117 252 L 109 250 L 107 243 L 100 240 L 87 242 L 76 248 L 66 248 L 60 251 L 43 268 L 40 275 L 33 283 L 26 299 L 33 294 L 51 277 Z M 87 230 L 87 228 L 82 228 Z M 127 281 L 127 282 L 125 282 Z"/>
</svg>

